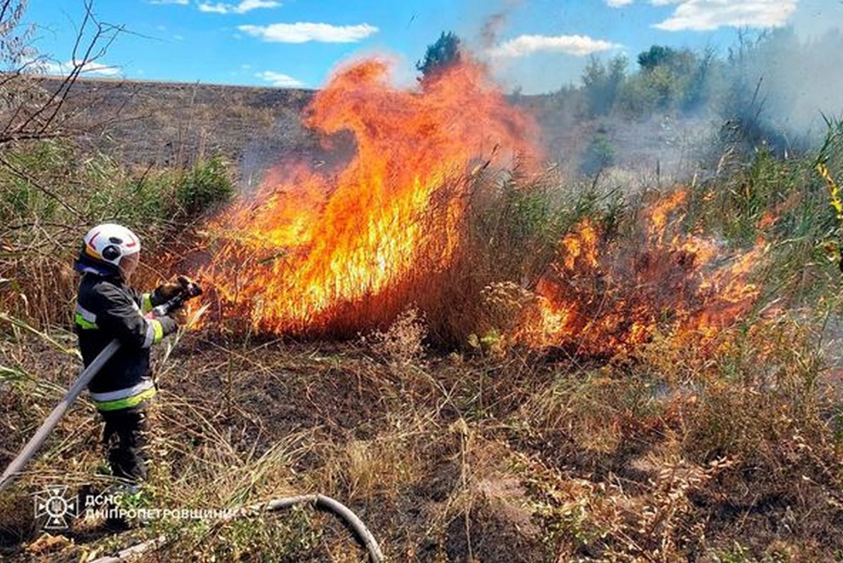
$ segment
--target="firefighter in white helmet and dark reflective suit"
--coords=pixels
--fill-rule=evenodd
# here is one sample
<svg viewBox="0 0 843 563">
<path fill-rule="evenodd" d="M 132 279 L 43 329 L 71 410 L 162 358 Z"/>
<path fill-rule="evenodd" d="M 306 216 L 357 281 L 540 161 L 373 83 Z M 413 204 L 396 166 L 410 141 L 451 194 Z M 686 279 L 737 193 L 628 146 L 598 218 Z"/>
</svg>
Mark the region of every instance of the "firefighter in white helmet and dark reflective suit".
<svg viewBox="0 0 843 563">
<path fill-rule="evenodd" d="M 141 241 L 135 233 L 105 223 L 85 234 L 74 266 L 82 274 L 74 321 L 85 366 L 111 340 L 121 343 L 88 389 L 105 421 L 103 442 L 111 472 L 132 491 L 137 491 L 147 476 L 142 451 L 146 406 L 156 393 L 149 349 L 179 326 L 171 316 L 154 317 L 150 312 L 186 287 L 184 277 L 180 277 L 181 283 L 164 283 L 151 293 L 130 287 L 140 250 Z"/>
</svg>

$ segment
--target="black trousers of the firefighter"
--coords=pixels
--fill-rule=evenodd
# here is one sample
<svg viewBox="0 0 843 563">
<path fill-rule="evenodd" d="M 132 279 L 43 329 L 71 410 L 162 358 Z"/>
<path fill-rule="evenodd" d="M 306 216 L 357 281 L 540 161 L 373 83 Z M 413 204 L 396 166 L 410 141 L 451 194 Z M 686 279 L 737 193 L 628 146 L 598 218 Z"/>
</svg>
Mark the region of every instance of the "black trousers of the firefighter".
<svg viewBox="0 0 843 563">
<path fill-rule="evenodd" d="M 108 453 L 111 473 L 131 481 L 147 478 L 144 448 L 147 445 L 147 415 L 142 407 L 103 410 L 103 444 Z"/>
</svg>

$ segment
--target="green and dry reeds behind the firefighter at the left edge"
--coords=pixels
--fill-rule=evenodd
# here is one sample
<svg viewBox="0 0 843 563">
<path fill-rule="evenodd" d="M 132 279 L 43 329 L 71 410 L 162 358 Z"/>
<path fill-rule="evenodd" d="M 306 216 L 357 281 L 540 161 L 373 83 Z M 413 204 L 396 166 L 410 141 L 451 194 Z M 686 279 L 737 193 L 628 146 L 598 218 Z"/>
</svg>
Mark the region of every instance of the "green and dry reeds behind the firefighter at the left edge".
<svg viewBox="0 0 843 563">
<path fill-rule="evenodd" d="M 66 141 L 20 144 L 0 155 L 0 308 L 38 326 L 67 322 L 72 263 L 97 223 L 123 223 L 144 246 L 140 282 L 169 276 L 172 240 L 233 193 L 223 161 L 192 169 L 126 169 Z"/>
</svg>

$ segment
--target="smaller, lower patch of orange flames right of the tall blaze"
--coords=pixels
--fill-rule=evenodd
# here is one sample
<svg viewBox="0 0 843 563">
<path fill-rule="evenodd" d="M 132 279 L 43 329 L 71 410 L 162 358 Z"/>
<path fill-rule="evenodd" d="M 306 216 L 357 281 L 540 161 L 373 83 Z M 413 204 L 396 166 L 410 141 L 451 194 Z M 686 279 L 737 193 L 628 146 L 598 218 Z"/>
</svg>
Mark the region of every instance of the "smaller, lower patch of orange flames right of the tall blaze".
<svg viewBox="0 0 843 563">
<path fill-rule="evenodd" d="M 522 326 L 516 340 L 614 355 L 646 342 L 663 325 L 705 341 L 747 314 L 760 295 L 748 279 L 764 245 L 715 264 L 728 256 L 715 241 L 668 236 L 686 199 L 679 190 L 647 208 L 646 241 L 637 248 L 601 243 L 591 221 L 577 225 L 562 239 L 556 267 L 535 287 L 538 328 Z"/>
</svg>

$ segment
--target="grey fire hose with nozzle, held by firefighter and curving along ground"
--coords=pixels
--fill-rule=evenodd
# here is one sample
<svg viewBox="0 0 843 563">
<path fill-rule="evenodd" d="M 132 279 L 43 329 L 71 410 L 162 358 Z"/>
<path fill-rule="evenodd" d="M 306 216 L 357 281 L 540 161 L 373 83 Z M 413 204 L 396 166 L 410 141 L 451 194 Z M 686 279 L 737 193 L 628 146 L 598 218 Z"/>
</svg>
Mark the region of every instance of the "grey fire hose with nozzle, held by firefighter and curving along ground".
<svg viewBox="0 0 843 563">
<path fill-rule="evenodd" d="M 153 314 L 158 316 L 169 314 L 170 312 L 175 311 L 175 309 L 183 307 L 187 299 L 201 294 L 201 288 L 195 284 L 191 284 L 190 288 L 185 289 L 187 289 L 185 295 L 177 295 L 175 298 L 170 299 L 167 303 L 159 305 L 153 309 Z M 41 424 L 38 432 L 35 432 L 35 436 L 26 443 L 24 448 L 18 454 L 18 457 L 14 458 L 12 463 L 8 465 L 5 471 L 3 471 L 3 476 L 0 477 L 0 491 L 3 491 L 6 487 L 8 487 L 8 485 L 13 483 L 15 478 L 24 469 L 24 466 L 35 456 L 35 453 L 38 452 L 40 447 L 44 445 L 47 437 L 50 436 L 51 432 L 56 427 L 56 424 L 58 424 L 58 421 L 62 420 L 62 416 L 64 416 L 67 412 L 67 409 L 70 405 L 72 405 L 73 401 L 78 398 L 83 389 L 88 387 L 88 384 L 91 379 L 94 378 L 94 375 L 99 373 L 99 370 L 102 369 L 105 363 L 108 362 L 111 357 L 115 355 L 115 352 L 120 349 L 120 346 L 121 344 L 119 340 L 111 340 L 110 343 L 99 352 L 99 355 L 94 358 L 94 361 L 91 362 L 88 367 L 83 369 L 83 372 L 79 374 L 79 377 L 75 382 L 73 382 L 64 397 L 62 397 L 62 400 L 59 401 L 58 405 L 56 405 L 50 415 L 47 416 L 46 420 Z M 368 528 L 366 528 L 366 525 L 362 523 L 362 520 L 357 517 L 357 514 L 352 512 L 351 509 L 346 507 L 340 501 L 330 498 L 330 496 L 316 494 L 277 498 L 266 503 L 240 508 L 236 517 L 247 517 L 260 512 L 274 512 L 283 508 L 293 507 L 298 504 L 312 504 L 314 507 L 324 508 L 329 512 L 336 514 L 336 516 L 341 517 L 349 528 L 352 528 L 352 531 L 360 544 L 362 544 L 362 547 L 368 550 L 369 557 L 373 563 L 380 563 L 384 560 L 384 555 L 380 550 L 378 542 L 374 539 L 374 536 L 371 532 L 369 532 Z M 165 538 L 163 537 L 149 539 L 127 548 L 126 550 L 122 550 L 115 556 L 100 557 L 91 563 L 118 563 L 129 557 L 142 555 L 148 550 L 154 549 L 160 544 L 163 544 L 164 541 Z"/>
</svg>

